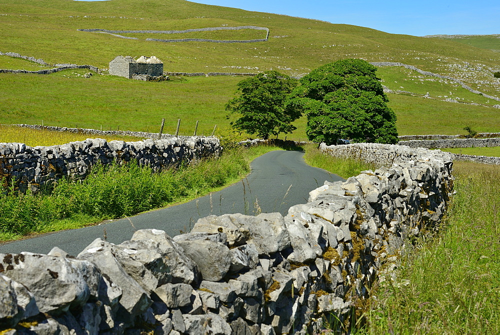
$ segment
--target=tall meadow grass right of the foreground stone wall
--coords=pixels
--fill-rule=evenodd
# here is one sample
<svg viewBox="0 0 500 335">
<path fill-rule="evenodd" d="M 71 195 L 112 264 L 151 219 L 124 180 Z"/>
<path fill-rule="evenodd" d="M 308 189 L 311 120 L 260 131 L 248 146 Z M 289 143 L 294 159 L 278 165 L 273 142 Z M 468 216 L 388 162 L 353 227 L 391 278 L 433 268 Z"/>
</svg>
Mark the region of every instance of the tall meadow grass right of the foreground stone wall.
<svg viewBox="0 0 500 335">
<path fill-rule="evenodd" d="M 455 162 L 454 175 L 441 231 L 372 292 L 366 332 L 500 332 L 500 168 Z"/>
</svg>

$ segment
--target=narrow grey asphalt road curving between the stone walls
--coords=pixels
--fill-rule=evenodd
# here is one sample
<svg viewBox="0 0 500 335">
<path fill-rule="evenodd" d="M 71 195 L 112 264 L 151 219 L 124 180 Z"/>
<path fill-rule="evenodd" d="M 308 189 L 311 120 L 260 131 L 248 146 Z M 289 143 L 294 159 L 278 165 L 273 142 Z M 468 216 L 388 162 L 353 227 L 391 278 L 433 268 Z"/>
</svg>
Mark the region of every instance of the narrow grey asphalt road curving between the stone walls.
<svg viewBox="0 0 500 335">
<path fill-rule="evenodd" d="M 57 246 L 76 256 L 97 237 L 118 244 L 130 239 L 135 230 L 146 228 L 161 229 L 175 236 L 181 231 L 189 231 L 198 218 L 211 214 L 280 212 L 285 215 L 289 207 L 306 203 L 309 192 L 323 185 L 325 180 L 342 180 L 308 166 L 302 156 L 303 152 L 299 151 L 271 151 L 251 163 L 252 171 L 245 179 L 219 192 L 105 224 L 2 244 L 0 253 L 29 251 L 46 254 Z"/>
</svg>

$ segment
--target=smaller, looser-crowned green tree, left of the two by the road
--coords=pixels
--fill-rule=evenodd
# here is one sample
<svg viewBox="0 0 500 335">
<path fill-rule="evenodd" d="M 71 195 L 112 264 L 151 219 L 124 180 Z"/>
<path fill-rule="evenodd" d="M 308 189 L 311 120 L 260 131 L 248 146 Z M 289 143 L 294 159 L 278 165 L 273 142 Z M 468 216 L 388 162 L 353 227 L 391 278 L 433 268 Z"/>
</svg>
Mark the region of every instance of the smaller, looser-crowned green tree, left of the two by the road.
<svg viewBox="0 0 500 335">
<path fill-rule="evenodd" d="M 240 81 L 237 97 L 229 100 L 225 110 L 240 117 L 231 126 L 248 134 L 267 139 L 269 135 L 290 133 L 296 129 L 291 122 L 300 117 L 299 110 L 284 108 L 286 96 L 298 81 L 277 71 L 259 73 Z"/>
</svg>

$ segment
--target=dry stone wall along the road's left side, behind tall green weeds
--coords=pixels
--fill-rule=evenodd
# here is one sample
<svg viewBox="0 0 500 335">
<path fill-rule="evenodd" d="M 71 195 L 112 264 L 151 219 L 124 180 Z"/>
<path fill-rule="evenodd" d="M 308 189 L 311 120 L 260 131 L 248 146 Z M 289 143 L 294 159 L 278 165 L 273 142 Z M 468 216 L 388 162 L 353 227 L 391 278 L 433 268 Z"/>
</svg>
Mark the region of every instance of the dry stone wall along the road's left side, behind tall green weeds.
<svg viewBox="0 0 500 335">
<path fill-rule="evenodd" d="M 192 137 L 139 142 L 86 139 L 49 147 L 29 147 L 23 143 L 0 143 L 0 172 L 19 189 L 50 184 L 59 178 L 84 178 L 92 165 L 135 161 L 153 170 L 218 156 L 219 140 Z"/>
</svg>

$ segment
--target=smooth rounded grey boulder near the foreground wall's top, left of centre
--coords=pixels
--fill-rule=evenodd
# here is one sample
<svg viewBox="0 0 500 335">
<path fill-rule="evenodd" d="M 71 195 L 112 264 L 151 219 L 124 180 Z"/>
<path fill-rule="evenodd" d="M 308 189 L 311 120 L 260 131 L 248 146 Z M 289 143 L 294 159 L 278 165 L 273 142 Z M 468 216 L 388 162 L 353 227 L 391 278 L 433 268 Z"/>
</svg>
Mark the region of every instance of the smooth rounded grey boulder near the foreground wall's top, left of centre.
<svg viewBox="0 0 500 335">
<path fill-rule="evenodd" d="M 231 266 L 232 254 L 224 244 L 210 240 L 177 242 L 198 266 L 203 280 L 222 279 Z"/>
</svg>

